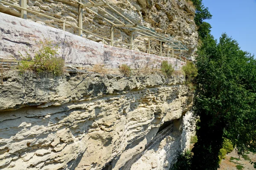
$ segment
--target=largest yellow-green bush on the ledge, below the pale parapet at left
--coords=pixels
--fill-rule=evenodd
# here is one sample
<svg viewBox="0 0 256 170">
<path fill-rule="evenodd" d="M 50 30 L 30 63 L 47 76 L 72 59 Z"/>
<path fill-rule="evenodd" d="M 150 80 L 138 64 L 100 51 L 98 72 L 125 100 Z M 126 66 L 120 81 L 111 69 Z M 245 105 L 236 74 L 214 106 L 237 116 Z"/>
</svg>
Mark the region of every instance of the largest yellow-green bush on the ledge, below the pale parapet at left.
<svg viewBox="0 0 256 170">
<path fill-rule="evenodd" d="M 19 65 L 20 72 L 22 74 L 27 71 L 35 74 L 47 72 L 55 76 L 63 74 L 65 61 L 61 57 L 56 57 L 58 45 L 52 45 L 50 40 L 40 41 L 39 45 L 39 50 L 35 51 L 35 57 L 31 57 L 28 51 L 25 56 L 19 52 L 22 57 Z"/>
</svg>

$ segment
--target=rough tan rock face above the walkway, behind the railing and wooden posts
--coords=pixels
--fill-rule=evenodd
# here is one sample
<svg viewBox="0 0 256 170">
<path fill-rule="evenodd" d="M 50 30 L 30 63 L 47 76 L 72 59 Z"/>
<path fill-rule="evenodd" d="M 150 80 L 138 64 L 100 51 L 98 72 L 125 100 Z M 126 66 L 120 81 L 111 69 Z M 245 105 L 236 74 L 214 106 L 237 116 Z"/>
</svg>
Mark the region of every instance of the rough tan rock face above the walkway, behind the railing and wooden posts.
<svg viewBox="0 0 256 170">
<path fill-rule="evenodd" d="M 5 0 L 6 2 L 19 6 L 19 0 Z M 96 1 L 95 1 L 96 2 Z M 98 1 L 99 2 L 99 1 Z M 147 28 L 154 28 L 158 33 L 172 36 L 175 40 L 180 40 L 189 48 L 185 52 L 186 57 L 193 57 L 196 50 L 198 33 L 194 22 L 195 8 L 190 0 L 108 0 L 116 10 L 125 15 L 133 23 Z M 81 0 L 81 3 L 88 3 L 87 0 Z M 67 21 L 73 25 L 78 26 L 78 4 L 75 0 L 29 0 L 27 8 L 37 12 L 41 12 L 48 16 L 55 17 Z M 113 21 L 113 18 L 106 15 L 105 12 L 99 8 L 92 8 L 98 14 L 107 17 Z M 125 20 L 118 14 L 113 13 L 110 8 L 103 7 L 109 11 L 119 20 Z M 0 12 L 11 14 L 20 17 L 20 10 L 0 4 Z M 28 14 L 28 20 L 32 20 L 47 26 L 62 29 L 63 24 L 45 17 L 37 16 L 35 14 Z M 83 11 L 83 28 L 103 37 L 110 38 L 110 26 L 106 20 L 102 20 L 96 14 L 84 9 Z M 72 28 L 66 25 L 66 31 L 73 34 L 78 34 L 77 28 Z M 122 29 L 120 27 L 114 28 L 114 40 L 129 43 L 131 31 Z M 83 36 L 90 40 L 101 41 L 99 38 L 83 33 Z M 147 48 L 148 39 L 141 35 L 134 33 L 134 44 L 137 49 Z M 108 44 L 109 42 L 106 41 Z M 121 45 L 121 44 L 119 44 Z M 122 46 L 122 45 L 121 45 Z M 153 50 L 160 50 L 160 42 L 152 40 L 151 46 Z M 163 51 L 166 52 L 167 46 L 163 44 Z M 178 53 L 178 52 L 177 52 Z"/>
</svg>

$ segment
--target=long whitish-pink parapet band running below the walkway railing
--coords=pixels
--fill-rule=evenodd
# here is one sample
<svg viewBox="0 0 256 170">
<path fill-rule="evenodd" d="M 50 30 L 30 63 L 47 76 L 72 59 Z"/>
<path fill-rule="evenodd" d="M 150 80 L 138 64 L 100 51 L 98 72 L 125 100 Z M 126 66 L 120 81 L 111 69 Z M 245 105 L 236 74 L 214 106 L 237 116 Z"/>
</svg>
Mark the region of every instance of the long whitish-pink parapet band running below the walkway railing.
<svg viewBox="0 0 256 170">
<path fill-rule="evenodd" d="M 103 45 L 60 29 L 3 13 L 0 13 L 0 20 L 0 59 L 20 59 L 20 53 L 25 56 L 26 52 L 33 56 L 31 51 L 40 48 L 38 42 L 48 39 L 53 45 L 58 44 L 58 55 L 67 64 L 87 67 L 101 64 L 106 68 L 118 68 L 121 64 L 127 64 L 131 68 L 160 68 L 161 62 L 167 60 L 177 70 L 185 65 L 179 59 Z"/>
</svg>

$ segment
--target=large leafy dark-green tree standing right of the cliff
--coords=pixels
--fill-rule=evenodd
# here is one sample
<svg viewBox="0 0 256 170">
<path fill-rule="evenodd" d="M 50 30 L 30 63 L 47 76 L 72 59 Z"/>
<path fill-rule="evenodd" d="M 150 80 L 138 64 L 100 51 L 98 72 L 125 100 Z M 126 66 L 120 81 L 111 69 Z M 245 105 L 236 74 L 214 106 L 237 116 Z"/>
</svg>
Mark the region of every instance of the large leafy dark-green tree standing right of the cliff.
<svg viewBox="0 0 256 170">
<path fill-rule="evenodd" d="M 217 170 L 224 137 L 244 154 L 256 146 L 256 60 L 223 34 L 205 37 L 198 50 L 194 112 L 200 117 L 193 170 Z"/>
</svg>

